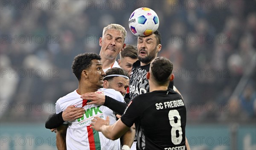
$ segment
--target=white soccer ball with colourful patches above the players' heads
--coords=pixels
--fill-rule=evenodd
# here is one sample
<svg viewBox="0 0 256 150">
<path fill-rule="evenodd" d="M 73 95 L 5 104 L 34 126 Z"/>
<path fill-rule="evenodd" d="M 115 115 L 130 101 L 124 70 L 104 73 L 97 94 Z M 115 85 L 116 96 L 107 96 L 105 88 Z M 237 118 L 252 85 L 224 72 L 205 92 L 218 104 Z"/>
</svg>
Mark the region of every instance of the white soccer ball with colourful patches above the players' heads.
<svg viewBox="0 0 256 150">
<path fill-rule="evenodd" d="M 152 9 L 142 7 L 136 9 L 129 18 L 129 28 L 138 37 L 147 36 L 157 31 L 159 19 Z"/>
</svg>

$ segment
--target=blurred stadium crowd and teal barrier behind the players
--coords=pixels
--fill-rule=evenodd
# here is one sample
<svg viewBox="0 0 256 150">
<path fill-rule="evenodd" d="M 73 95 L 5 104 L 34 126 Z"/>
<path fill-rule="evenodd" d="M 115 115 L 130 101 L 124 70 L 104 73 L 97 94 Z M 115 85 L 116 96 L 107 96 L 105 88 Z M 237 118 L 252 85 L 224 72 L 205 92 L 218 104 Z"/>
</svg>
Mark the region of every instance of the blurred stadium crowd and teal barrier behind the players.
<svg viewBox="0 0 256 150">
<path fill-rule="evenodd" d="M 44 122 L 55 101 L 77 88 L 71 63 L 99 53 L 110 23 L 132 11 L 159 16 L 162 51 L 174 63 L 187 107 L 192 150 L 256 149 L 255 0 L 1 0 L 1 150 L 56 149 Z"/>
</svg>

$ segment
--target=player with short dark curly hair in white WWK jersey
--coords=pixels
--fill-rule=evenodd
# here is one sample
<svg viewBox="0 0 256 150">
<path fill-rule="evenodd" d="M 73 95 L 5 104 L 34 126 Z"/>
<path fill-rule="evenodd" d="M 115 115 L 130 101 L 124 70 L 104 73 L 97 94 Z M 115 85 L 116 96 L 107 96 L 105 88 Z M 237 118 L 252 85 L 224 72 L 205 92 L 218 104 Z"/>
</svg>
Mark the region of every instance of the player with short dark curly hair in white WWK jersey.
<svg viewBox="0 0 256 150">
<path fill-rule="evenodd" d="M 100 106 L 98 105 L 87 105 L 88 101 L 80 98 L 83 93 L 95 92 L 103 87 L 103 76 L 105 76 L 105 72 L 102 70 L 100 59 L 100 56 L 95 53 L 85 53 L 79 54 L 73 61 L 72 69 L 79 80 L 79 87 L 77 90 L 58 99 L 56 102 L 56 113 L 60 113 L 70 105 L 75 105 L 76 107 L 83 107 L 85 109 L 85 114 L 79 119 L 67 122 L 68 126 L 61 125 L 58 127 L 58 149 L 120 149 L 119 143 L 107 140 L 101 133 L 90 130 L 89 124 L 93 116 L 104 118 L 103 107 L 100 109 Z M 116 98 L 118 99 L 117 96 Z M 121 94 L 119 94 L 119 98 L 122 98 Z"/>
</svg>

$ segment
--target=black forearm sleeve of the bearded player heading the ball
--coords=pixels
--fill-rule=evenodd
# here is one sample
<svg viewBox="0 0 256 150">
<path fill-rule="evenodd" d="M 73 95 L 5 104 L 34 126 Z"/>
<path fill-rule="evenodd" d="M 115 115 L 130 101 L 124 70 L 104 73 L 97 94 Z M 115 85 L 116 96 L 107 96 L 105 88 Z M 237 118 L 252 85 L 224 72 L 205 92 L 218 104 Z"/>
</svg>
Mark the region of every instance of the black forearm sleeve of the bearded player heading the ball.
<svg viewBox="0 0 256 150">
<path fill-rule="evenodd" d="M 105 96 L 104 106 L 115 111 L 116 113 L 123 114 L 125 111 L 125 108 L 127 107 L 127 104 L 124 102 L 119 102 L 116 99 L 113 99 L 109 96 Z"/>
</svg>

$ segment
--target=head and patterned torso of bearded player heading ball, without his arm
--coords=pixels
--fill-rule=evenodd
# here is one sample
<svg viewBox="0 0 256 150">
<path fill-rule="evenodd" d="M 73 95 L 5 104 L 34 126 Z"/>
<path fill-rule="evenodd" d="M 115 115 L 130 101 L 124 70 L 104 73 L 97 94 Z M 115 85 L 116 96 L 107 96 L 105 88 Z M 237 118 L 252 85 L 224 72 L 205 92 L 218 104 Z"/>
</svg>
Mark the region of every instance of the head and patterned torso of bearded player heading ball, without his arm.
<svg viewBox="0 0 256 150">
<path fill-rule="evenodd" d="M 155 31 L 153 34 L 145 37 L 138 37 L 137 49 L 139 60 L 133 64 L 129 84 L 131 99 L 137 95 L 149 92 L 146 74 L 149 71 L 151 61 L 157 57 L 161 48 L 161 34 L 159 31 Z M 168 88 L 173 88 L 173 82 L 169 83 Z"/>
</svg>

